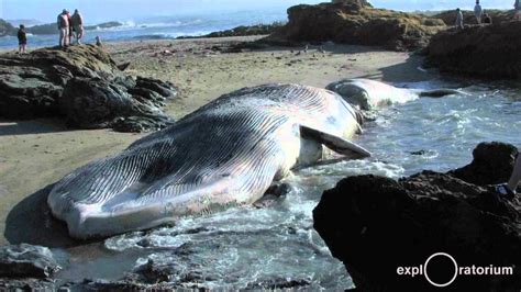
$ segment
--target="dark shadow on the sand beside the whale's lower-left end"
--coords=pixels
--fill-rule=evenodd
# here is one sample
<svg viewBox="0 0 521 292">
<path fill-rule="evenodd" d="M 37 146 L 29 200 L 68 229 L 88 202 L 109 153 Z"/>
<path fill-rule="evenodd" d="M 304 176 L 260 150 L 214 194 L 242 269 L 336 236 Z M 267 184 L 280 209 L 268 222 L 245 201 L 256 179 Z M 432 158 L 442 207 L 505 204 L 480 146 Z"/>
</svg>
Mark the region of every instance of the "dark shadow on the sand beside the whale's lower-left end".
<svg viewBox="0 0 521 292">
<path fill-rule="evenodd" d="M 29 195 L 18 203 L 5 220 L 4 236 L 11 244 L 31 244 L 46 247 L 71 247 L 84 245 L 70 238 L 65 222 L 51 214 L 47 195 L 53 184 Z"/>
</svg>

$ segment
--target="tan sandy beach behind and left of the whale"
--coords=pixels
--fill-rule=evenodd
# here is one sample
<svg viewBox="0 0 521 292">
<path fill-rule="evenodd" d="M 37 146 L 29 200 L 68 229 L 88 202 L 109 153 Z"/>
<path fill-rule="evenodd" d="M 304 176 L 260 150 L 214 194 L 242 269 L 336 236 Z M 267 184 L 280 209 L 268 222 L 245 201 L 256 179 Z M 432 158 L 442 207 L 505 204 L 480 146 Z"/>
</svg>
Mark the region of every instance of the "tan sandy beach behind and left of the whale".
<svg viewBox="0 0 521 292">
<path fill-rule="evenodd" d="M 433 72 L 418 69 L 421 65 L 418 56 L 375 47 L 329 44 L 324 46 L 325 53 L 319 52 L 318 47 L 310 47 L 307 53 L 285 47 L 241 53 L 210 49 L 258 37 L 149 41 L 104 46 L 118 63 L 131 63 L 126 72 L 168 80 L 180 89 L 180 97 L 166 108 L 175 119 L 223 93 L 262 83 L 295 82 L 324 87 L 342 78 L 413 82 L 435 77 Z M 38 191 L 69 171 L 119 153 L 144 135 L 110 130 L 67 130 L 53 120 L 0 121 L 0 244 L 32 240 L 32 244 L 48 246 L 66 245 L 49 232 L 52 223 L 40 222 L 42 218 L 27 214 L 41 207 L 27 207 L 35 202 L 31 198 L 38 196 Z M 44 204 L 41 199 L 38 202 Z"/>
</svg>

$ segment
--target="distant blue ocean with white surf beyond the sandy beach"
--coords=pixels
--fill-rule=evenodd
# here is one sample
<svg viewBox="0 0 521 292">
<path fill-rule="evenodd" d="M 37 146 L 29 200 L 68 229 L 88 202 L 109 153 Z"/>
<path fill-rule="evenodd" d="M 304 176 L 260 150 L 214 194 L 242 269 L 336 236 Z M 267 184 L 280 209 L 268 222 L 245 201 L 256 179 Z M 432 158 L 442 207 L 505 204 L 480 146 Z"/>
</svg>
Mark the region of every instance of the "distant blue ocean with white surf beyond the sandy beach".
<svg viewBox="0 0 521 292">
<path fill-rule="evenodd" d="M 88 22 L 88 20 L 86 20 Z M 84 43 L 145 40 L 173 40 L 178 36 L 200 36 L 211 32 L 230 30 L 240 25 L 271 24 L 287 21 L 285 9 L 221 12 L 213 14 L 190 14 L 185 16 L 141 18 L 122 21 L 123 25 L 110 29 L 86 31 Z M 51 35 L 27 35 L 27 46 L 54 46 L 58 44 L 58 31 Z M 18 47 L 15 36 L 0 37 L 0 48 Z"/>
</svg>

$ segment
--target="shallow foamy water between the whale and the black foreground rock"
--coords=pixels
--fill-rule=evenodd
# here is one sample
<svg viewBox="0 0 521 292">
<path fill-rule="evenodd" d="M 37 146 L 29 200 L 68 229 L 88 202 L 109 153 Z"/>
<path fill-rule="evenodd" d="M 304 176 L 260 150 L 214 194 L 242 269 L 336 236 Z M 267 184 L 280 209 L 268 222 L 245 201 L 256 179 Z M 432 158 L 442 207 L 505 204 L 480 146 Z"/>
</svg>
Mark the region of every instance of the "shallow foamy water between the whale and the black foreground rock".
<svg viewBox="0 0 521 292">
<path fill-rule="evenodd" d="M 292 191 L 269 207 L 230 209 L 187 217 L 173 227 L 115 236 L 98 247 L 103 251 L 101 259 L 76 259 L 58 277 L 114 280 L 153 260 L 170 269 L 170 282 L 187 288 L 244 289 L 280 279 L 307 282 L 313 291 L 353 287 L 343 265 L 312 228 L 312 210 L 323 190 L 347 176 L 399 178 L 423 169 L 454 169 L 472 160 L 472 150 L 480 142 L 521 147 L 519 83 L 397 86 L 459 88 L 462 93 L 421 98 L 379 111 L 355 139 L 373 153 L 372 158 L 296 171 L 286 179 Z M 424 154 L 411 154 L 419 150 Z"/>
</svg>

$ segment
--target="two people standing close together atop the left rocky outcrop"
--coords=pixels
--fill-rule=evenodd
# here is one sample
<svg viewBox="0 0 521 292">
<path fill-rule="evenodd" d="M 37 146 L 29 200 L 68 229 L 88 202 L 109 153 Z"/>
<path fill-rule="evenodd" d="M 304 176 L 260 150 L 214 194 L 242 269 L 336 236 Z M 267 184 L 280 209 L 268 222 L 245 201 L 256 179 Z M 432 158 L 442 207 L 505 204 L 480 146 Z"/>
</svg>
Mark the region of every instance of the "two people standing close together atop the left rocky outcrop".
<svg viewBox="0 0 521 292">
<path fill-rule="evenodd" d="M 84 18 L 76 9 L 74 14 L 67 9 L 64 9 L 58 14 L 57 25 L 59 30 L 59 47 L 66 48 L 73 43 L 73 36 L 76 38 L 78 44 L 81 44 L 84 37 Z"/>
</svg>

